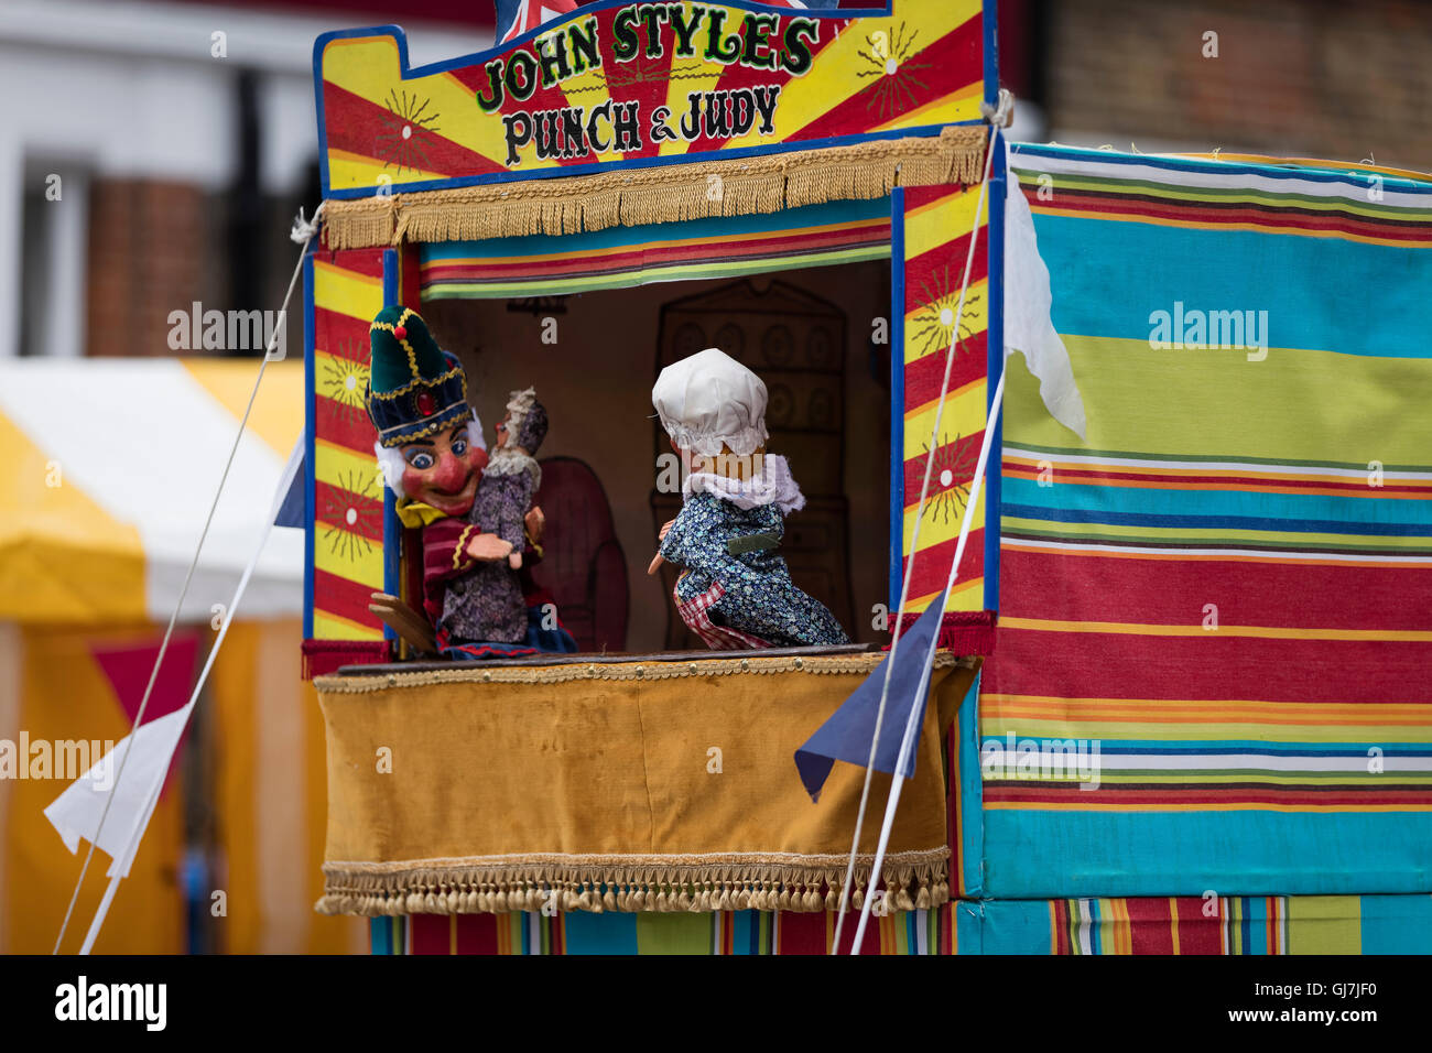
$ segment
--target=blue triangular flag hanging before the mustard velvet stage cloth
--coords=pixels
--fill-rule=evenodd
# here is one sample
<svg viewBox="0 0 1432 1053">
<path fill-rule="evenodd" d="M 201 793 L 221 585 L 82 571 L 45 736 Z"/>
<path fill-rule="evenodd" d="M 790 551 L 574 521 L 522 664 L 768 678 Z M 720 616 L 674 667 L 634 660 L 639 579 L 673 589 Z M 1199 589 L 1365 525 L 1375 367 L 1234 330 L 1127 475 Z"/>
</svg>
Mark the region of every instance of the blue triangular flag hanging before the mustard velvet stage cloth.
<svg viewBox="0 0 1432 1053">
<path fill-rule="evenodd" d="M 885 701 L 885 719 L 881 722 L 881 742 L 875 751 L 875 771 L 895 771 L 911 708 L 919 705 L 919 718 L 925 716 L 925 698 L 916 699 L 915 695 L 919 692 L 919 683 L 925 675 L 929 640 L 939 632 L 944 613 L 945 593 L 939 593 L 925 607 L 925 613 L 915 625 L 899 638 L 895 666 L 891 669 L 889 696 Z M 871 738 L 875 735 L 875 713 L 881 708 L 885 666 L 889 665 L 889 655 L 886 655 L 865 678 L 865 682 L 796 751 L 796 768 L 800 771 L 800 781 L 812 801 L 821 797 L 821 788 L 836 761 L 848 761 L 862 768 L 869 761 Z M 928 682 L 925 695 L 929 695 Z M 915 774 L 914 755 L 899 766 L 905 778 L 911 778 Z"/>
</svg>

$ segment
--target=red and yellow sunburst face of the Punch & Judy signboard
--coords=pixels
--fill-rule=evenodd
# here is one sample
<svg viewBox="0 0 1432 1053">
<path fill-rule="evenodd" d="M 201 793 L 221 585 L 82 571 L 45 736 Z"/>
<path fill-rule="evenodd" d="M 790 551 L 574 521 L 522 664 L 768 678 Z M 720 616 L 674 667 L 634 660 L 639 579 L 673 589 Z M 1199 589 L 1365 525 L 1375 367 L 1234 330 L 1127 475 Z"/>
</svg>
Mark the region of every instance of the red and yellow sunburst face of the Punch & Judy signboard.
<svg viewBox="0 0 1432 1053">
<path fill-rule="evenodd" d="M 477 97 L 491 95 L 488 63 L 524 52 L 537 56 L 536 42 L 473 56 L 465 64 L 435 69 L 422 76 L 407 74 L 404 40 L 390 33 L 359 36 L 331 34 L 318 43 L 318 95 L 322 105 L 322 150 L 328 188 L 332 191 L 375 191 L 384 185 L 422 185 L 435 189 L 448 181 L 471 181 L 498 173 L 531 173 L 569 165 L 613 163 L 642 158 L 710 153 L 730 149 L 770 148 L 782 143 L 819 145 L 831 139 L 889 135 L 914 128 L 934 128 L 979 119 L 984 95 L 984 17 L 981 0 L 894 0 L 891 14 L 835 19 L 818 17 L 815 29 L 799 37 L 809 50 L 809 64 L 789 72 L 779 56 L 786 53 L 786 29 L 806 11 L 773 13 L 736 4 L 689 6 L 697 17 L 692 54 L 679 54 L 679 39 L 667 17 L 656 24 L 657 54 L 649 54 L 649 21 L 636 19 L 636 3 L 579 9 L 543 27 L 543 52 L 551 54 L 561 42 L 564 54 L 574 53 L 570 33 L 596 23 L 600 66 L 570 74 L 536 90 L 523 100 L 504 89 L 495 112 L 484 112 Z M 710 27 L 719 19 L 717 42 L 732 33 L 745 40 L 748 14 L 773 19 L 768 44 L 756 53 L 778 56 L 776 67 L 707 59 Z M 619 17 L 623 34 L 634 32 L 636 54 L 619 60 Z M 763 32 L 763 30 L 762 30 Z M 763 37 L 760 37 L 763 39 Z M 748 132 L 703 133 L 693 140 L 680 135 L 653 136 L 664 123 L 677 129 L 690 112 L 692 93 L 746 87 L 779 90 L 772 130 L 762 133 L 759 122 Z M 538 159 L 536 136 L 516 146 L 508 163 L 504 117 L 523 110 L 537 113 L 581 107 L 583 119 L 594 109 L 636 105 L 640 142 L 606 150 L 573 150 Z M 659 107 L 667 107 L 664 122 Z M 601 136 L 610 133 L 604 120 Z"/>
</svg>

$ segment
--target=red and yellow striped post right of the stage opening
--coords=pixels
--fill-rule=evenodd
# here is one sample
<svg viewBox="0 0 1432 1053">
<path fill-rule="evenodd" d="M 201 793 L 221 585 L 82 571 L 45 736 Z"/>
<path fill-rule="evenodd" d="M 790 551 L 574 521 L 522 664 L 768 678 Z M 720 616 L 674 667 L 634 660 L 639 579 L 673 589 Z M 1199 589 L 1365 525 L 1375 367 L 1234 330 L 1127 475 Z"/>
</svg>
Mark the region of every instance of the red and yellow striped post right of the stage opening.
<svg viewBox="0 0 1432 1053">
<path fill-rule="evenodd" d="M 959 288 L 974 232 L 978 186 L 909 188 L 904 195 L 905 259 L 905 534 L 911 556 L 945 361 L 959 311 Z M 959 341 L 949 374 L 935 464 L 925 500 L 906 612 L 924 610 L 945 586 L 959 523 L 984 441 L 990 327 L 988 203 L 979 216 L 975 256 L 959 315 Z M 984 494 L 975 507 L 949 610 L 984 610 Z"/>
</svg>

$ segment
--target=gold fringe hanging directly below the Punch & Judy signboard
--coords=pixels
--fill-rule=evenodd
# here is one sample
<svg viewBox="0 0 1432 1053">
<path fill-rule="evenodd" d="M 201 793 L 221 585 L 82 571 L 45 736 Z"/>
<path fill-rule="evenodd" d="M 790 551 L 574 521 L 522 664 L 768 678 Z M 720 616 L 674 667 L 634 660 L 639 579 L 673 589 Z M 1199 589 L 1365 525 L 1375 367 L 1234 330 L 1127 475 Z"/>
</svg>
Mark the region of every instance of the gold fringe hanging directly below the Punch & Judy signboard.
<svg viewBox="0 0 1432 1053">
<path fill-rule="evenodd" d="M 978 183 L 988 136 L 984 125 L 955 125 L 938 136 L 739 160 L 328 201 L 324 228 L 328 248 L 355 249 L 779 212 L 882 198 L 896 186 Z"/>
</svg>

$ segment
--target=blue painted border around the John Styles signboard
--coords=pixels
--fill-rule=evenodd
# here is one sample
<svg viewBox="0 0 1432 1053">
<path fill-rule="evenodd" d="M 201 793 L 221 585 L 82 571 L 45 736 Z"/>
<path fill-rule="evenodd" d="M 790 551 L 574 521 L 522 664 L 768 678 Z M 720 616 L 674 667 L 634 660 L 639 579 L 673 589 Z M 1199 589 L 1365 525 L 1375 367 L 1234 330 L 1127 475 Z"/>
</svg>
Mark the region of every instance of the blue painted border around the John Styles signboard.
<svg viewBox="0 0 1432 1053">
<path fill-rule="evenodd" d="M 543 24 L 540 29 L 524 33 L 505 44 L 490 47 L 485 52 L 475 52 L 473 54 L 463 54 L 455 59 L 447 59 L 445 62 L 428 63 L 427 66 L 410 66 L 408 63 L 408 37 L 401 26 L 388 23 L 384 26 L 367 26 L 361 29 L 341 29 L 332 30 L 329 33 L 322 33 L 314 42 L 314 109 L 318 117 L 318 165 L 319 176 L 322 179 L 324 196 L 332 198 L 334 201 L 354 201 L 358 198 L 372 198 L 377 196 L 378 188 L 374 186 L 371 191 L 364 189 L 332 189 L 328 178 L 328 136 L 325 133 L 325 119 L 324 119 L 324 49 L 334 40 L 348 40 L 352 37 L 372 37 L 372 36 L 391 36 L 398 47 L 398 72 L 402 80 L 412 80 L 415 77 L 432 76 L 434 73 L 442 73 L 451 69 L 460 69 L 465 66 L 480 66 L 490 59 L 504 54 L 520 44 L 530 42 L 540 33 L 550 33 L 564 21 L 574 21 L 577 19 L 584 19 L 594 11 L 600 11 L 609 7 L 623 7 L 630 4 L 632 0 L 603 0 L 601 3 L 589 4 L 586 7 L 579 7 L 571 14 L 561 19 L 553 19 L 551 21 Z M 984 76 L 985 76 L 985 96 L 992 99 L 998 95 L 998 74 L 994 66 L 994 30 L 991 29 L 994 21 L 994 7 L 997 0 L 984 0 L 981 7 L 981 19 L 984 20 Z M 789 16 L 792 9 L 789 7 L 769 7 L 766 4 L 749 3 L 748 0 L 722 0 L 726 7 L 736 7 L 740 10 L 749 10 L 755 13 L 779 13 Z M 862 7 L 853 10 L 832 9 L 825 11 L 808 10 L 803 11 L 806 17 L 813 19 L 829 19 L 829 20 L 849 20 L 862 17 L 881 17 L 894 14 L 895 0 L 888 0 L 884 7 Z M 994 85 L 994 89 L 991 89 Z M 952 122 L 955 125 L 979 125 L 984 123 L 982 119 L 958 120 Z M 802 139 L 799 142 L 778 143 L 770 146 L 750 146 L 737 150 L 715 150 L 710 156 L 700 156 L 700 160 L 716 160 L 716 159 L 742 159 L 753 156 L 768 156 L 773 153 L 786 153 L 790 150 L 811 150 L 828 146 L 848 146 L 861 142 L 878 142 L 888 139 L 911 139 L 911 138 L 929 138 L 939 135 L 941 129 L 949 128 L 949 125 L 921 125 L 918 128 L 902 129 L 901 132 L 882 132 L 871 135 L 846 135 L 846 136 L 828 136 L 823 139 Z M 677 155 L 672 158 L 634 158 L 632 160 L 607 160 L 594 162 L 591 165 L 569 165 L 550 169 L 540 169 L 534 172 L 493 172 L 490 175 L 481 176 L 461 176 L 455 179 L 424 179 L 417 182 L 400 183 L 394 182 L 385 189 L 394 193 L 414 193 L 418 191 L 437 191 L 437 189 L 453 189 L 460 186 L 478 186 L 484 183 L 504 183 L 504 182 L 518 182 L 530 179 L 553 179 L 560 176 L 577 176 L 577 175 L 593 175 L 597 172 L 620 172 L 623 169 L 633 168 L 657 168 L 663 165 L 683 165 L 692 163 L 692 155 Z"/>
</svg>

